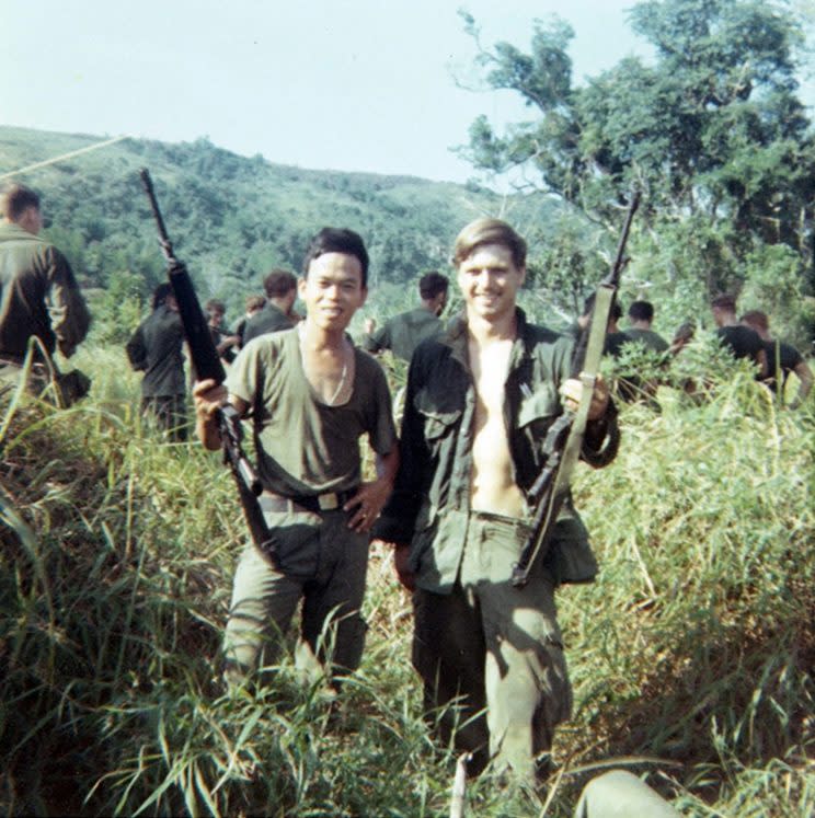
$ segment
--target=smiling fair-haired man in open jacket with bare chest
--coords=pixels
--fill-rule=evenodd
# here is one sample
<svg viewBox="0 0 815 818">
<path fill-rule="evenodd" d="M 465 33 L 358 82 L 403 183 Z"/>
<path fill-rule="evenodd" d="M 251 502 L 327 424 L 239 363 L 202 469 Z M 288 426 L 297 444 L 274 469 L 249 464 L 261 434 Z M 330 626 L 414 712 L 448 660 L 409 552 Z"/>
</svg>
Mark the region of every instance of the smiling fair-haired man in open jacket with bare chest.
<svg viewBox="0 0 815 818">
<path fill-rule="evenodd" d="M 569 503 L 527 587 L 510 583 L 540 445 L 562 401 L 576 408 L 579 396 L 574 339 L 527 323 L 516 307 L 526 243 L 509 224 L 472 222 L 454 261 L 466 314 L 413 356 L 402 463 L 376 535 L 394 543 L 399 577 L 415 590 L 413 664 L 443 740 L 473 753 L 471 773 L 493 759 L 533 781 L 572 704 L 554 589 L 597 571 Z M 599 462 L 617 435 L 600 381 L 583 458 Z"/>
</svg>

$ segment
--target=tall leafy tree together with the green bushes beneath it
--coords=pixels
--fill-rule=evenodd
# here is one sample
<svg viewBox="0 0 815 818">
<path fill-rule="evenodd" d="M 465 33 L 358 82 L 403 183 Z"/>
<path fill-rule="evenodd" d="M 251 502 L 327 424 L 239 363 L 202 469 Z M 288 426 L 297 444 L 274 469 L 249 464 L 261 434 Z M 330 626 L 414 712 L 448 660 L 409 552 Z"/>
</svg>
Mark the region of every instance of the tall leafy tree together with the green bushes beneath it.
<svg viewBox="0 0 815 818">
<path fill-rule="evenodd" d="M 565 205 L 554 240 L 541 237 L 538 286 L 573 311 L 636 187 L 624 296 L 647 296 L 676 326 L 730 291 L 808 346 L 815 140 L 797 95 L 801 21 L 790 3 L 765 0 L 648 0 L 630 21 L 653 59 L 625 58 L 578 85 L 564 21 L 539 22 L 523 50 L 483 44 L 464 14 L 484 87 L 530 111 L 504 133 L 480 117 L 467 155 Z"/>
</svg>

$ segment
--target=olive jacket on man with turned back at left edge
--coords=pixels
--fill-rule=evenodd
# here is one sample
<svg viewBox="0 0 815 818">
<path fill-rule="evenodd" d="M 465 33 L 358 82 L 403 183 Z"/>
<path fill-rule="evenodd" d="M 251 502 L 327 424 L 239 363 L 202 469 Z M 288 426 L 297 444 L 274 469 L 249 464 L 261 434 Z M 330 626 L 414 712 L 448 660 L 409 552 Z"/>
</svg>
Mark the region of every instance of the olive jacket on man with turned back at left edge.
<svg viewBox="0 0 815 818">
<path fill-rule="evenodd" d="M 66 257 L 19 224 L 0 222 L 0 358 L 22 362 L 32 336 L 66 357 L 91 316 Z"/>
</svg>

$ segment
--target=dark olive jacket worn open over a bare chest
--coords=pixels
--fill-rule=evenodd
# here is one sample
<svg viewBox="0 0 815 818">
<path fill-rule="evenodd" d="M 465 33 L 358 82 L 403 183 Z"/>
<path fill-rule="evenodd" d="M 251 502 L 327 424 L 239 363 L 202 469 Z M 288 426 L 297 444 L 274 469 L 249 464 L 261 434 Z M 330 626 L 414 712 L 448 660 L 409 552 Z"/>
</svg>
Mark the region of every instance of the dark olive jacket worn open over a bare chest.
<svg viewBox="0 0 815 818">
<path fill-rule="evenodd" d="M 542 442 L 562 414 L 559 389 L 571 375 L 574 339 L 527 323 L 517 310 L 517 338 L 505 384 L 504 419 L 515 481 L 526 493 L 544 465 Z M 468 364 L 467 325 L 450 322 L 440 338 L 414 353 L 408 376 L 401 464 L 375 535 L 411 543 L 420 588 L 449 594 L 463 555 L 470 510 L 475 387 Z M 589 423 L 582 459 L 609 462 L 619 442 L 616 410 Z M 531 510 L 530 510 L 531 515 Z M 597 563 L 571 498 L 554 529 L 546 565 L 556 583 L 594 579 Z"/>
</svg>

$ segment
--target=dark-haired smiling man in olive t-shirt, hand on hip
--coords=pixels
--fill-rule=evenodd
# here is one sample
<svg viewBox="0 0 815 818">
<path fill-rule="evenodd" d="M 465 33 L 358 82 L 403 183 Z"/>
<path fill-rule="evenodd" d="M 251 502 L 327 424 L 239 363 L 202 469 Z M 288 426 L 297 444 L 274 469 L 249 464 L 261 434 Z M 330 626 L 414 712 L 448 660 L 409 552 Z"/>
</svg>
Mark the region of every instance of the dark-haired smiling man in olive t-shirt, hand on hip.
<svg viewBox="0 0 815 818">
<path fill-rule="evenodd" d="M 208 449 L 220 447 L 213 419 L 219 405 L 229 400 L 242 415 L 251 412 L 261 506 L 276 548 L 271 555 L 249 543 L 240 557 L 225 636 L 230 682 L 274 660 L 300 599 L 298 667 L 314 679 L 323 669 L 335 676 L 358 666 L 369 532 L 399 461 L 384 373 L 346 333 L 368 295 L 363 240 L 324 228 L 303 270 L 306 320 L 250 341 L 226 387 L 203 381 L 193 390 L 197 434 Z M 370 482 L 361 482 L 363 435 L 377 453 Z M 331 657 L 322 643 L 329 624 Z"/>
</svg>

